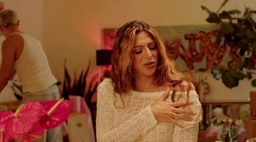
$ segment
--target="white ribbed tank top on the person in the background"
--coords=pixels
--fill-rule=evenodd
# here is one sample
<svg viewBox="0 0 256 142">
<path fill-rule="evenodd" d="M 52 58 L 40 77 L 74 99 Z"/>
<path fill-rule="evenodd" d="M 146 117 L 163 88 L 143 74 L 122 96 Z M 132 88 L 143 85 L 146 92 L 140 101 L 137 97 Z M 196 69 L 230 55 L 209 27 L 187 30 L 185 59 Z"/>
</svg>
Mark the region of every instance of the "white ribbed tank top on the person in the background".
<svg viewBox="0 0 256 142">
<path fill-rule="evenodd" d="M 24 39 L 24 48 L 15 62 L 23 92 L 38 92 L 56 83 L 40 41 L 28 34 L 13 34 L 19 34 Z"/>
</svg>

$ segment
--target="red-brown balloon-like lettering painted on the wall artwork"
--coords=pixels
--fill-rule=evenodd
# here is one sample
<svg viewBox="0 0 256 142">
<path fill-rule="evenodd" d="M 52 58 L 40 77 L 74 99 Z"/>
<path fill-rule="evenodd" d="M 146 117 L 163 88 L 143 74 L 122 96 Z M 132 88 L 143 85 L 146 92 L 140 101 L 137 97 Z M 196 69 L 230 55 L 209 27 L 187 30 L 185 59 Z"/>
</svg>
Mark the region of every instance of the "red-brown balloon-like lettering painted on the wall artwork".
<svg viewBox="0 0 256 142">
<path fill-rule="evenodd" d="M 180 57 L 190 70 L 195 69 L 194 64 L 196 62 L 202 62 L 204 57 L 207 62 L 206 70 L 211 69 L 211 67 L 220 67 L 227 53 L 227 46 L 234 45 L 227 44 L 227 46 L 219 46 L 216 41 L 212 41 L 216 34 L 218 34 L 218 30 L 185 34 L 184 38 L 188 40 L 188 48 L 184 46 L 181 39 L 175 39 L 170 42 L 164 41 L 167 55 L 173 60 Z M 198 43 L 199 49 L 196 48 L 196 43 Z M 237 55 L 237 49 L 232 48 L 229 51 L 231 60 L 228 62 L 228 67 L 231 67 L 237 60 L 241 60 L 241 57 Z"/>
</svg>

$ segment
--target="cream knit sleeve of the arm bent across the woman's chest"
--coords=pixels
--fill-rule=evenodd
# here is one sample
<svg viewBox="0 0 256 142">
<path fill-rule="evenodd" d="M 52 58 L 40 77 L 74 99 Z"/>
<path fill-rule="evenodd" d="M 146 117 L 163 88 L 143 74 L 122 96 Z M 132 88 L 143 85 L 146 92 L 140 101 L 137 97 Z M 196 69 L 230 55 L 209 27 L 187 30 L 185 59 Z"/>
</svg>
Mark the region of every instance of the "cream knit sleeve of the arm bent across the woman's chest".
<svg viewBox="0 0 256 142">
<path fill-rule="evenodd" d="M 143 108 L 137 115 L 118 127 L 113 126 L 116 106 L 111 80 L 100 83 L 97 92 L 97 141 L 135 141 L 157 124 L 150 106 Z"/>
</svg>

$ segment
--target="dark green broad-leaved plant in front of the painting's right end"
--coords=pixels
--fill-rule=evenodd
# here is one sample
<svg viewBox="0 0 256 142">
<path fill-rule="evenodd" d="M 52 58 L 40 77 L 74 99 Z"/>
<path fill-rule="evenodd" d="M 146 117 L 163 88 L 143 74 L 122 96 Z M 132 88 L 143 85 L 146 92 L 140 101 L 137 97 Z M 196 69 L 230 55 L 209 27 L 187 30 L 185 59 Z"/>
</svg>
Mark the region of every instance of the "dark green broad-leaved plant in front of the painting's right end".
<svg viewBox="0 0 256 142">
<path fill-rule="evenodd" d="M 253 70 L 256 69 L 256 22 L 252 15 L 256 13 L 246 7 L 242 16 L 239 10 L 221 11 L 228 0 L 223 1 L 220 8 L 213 12 L 201 6 L 207 11 L 209 17 L 207 22 L 220 25 L 220 30 L 216 36 L 217 43 L 221 46 L 229 46 L 236 56 L 236 62 L 227 67 L 213 67 L 211 73 L 217 80 L 228 87 L 236 87 L 239 80 L 244 78 L 252 79 Z M 256 79 L 252 80 L 252 86 L 256 87 Z"/>
</svg>

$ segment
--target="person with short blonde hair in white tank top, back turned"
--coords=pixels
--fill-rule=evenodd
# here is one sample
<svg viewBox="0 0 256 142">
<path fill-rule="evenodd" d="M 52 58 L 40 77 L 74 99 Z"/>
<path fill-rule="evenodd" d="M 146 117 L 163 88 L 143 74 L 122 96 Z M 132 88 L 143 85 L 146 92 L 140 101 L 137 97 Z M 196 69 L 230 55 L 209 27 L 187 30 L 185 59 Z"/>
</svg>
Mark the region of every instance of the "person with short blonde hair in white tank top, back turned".
<svg viewBox="0 0 256 142">
<path fill-rule="evenodd" d="M 60 99 L 57 80 L 40 41 L 19 30 L 15 11 L 0 11 L 0 30 L 6 37 L 2 44 L 0 92 L 16 72 L 22 85 L 22 103 Z M 61 127 L 45 131 L 45 136 L 36 141 L 62 141 Z"/>
</svg>

